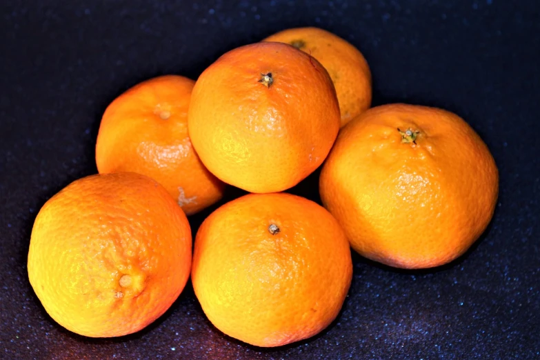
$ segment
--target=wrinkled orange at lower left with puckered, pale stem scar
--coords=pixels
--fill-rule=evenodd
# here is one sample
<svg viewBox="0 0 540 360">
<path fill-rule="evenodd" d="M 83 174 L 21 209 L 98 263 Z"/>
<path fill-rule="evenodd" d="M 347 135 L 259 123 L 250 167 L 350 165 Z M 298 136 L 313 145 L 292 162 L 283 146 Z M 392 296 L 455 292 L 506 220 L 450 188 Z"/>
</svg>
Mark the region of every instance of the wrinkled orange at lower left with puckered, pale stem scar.
<svg viewBox="0 0 540 360">
<path fill-rule="evenodd" d="M 137 332 L 186 285 L 191 231 L 156 181 L 130 172 L 74 181 L 39 211 L 28 277 L 52 319 L 86 337 Z"/>
</svg>

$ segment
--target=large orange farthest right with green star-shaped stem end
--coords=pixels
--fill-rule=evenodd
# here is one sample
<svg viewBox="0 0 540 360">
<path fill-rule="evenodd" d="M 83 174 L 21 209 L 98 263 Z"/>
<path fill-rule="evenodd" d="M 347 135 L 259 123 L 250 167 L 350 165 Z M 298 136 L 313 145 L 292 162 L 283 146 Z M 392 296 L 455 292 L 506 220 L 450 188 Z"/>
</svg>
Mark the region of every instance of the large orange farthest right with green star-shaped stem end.
<svg viewBox="0 0 540 360">
<path fill-rule="evenodd" d="M 416 140 L 401 142 L 397 128 L 418 131 Z M 456 114 L 393 104 L 343 128 L 319 186 L 354 250 L 397 268 L 432 268 L 466 252 L 486 229 L 499 172 Z"/>
</svg>

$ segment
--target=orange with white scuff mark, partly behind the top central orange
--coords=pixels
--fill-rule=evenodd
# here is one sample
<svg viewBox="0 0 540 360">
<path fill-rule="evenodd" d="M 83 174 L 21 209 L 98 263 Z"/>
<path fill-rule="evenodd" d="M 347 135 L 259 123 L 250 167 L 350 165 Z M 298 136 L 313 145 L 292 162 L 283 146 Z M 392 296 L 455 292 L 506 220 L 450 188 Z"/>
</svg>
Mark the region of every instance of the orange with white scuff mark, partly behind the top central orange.
<svg viewBox="0 0 540 360">
<path fill-rule="evenodd" d="M 145 174 L 161 183 L 188 215 L 221 199 L 224 188 L 188 137 L 193 85 L 186 77 L 168 75 L 130 88 L 103 114 L 96 145 L 101 174 Z"/>
</svg>

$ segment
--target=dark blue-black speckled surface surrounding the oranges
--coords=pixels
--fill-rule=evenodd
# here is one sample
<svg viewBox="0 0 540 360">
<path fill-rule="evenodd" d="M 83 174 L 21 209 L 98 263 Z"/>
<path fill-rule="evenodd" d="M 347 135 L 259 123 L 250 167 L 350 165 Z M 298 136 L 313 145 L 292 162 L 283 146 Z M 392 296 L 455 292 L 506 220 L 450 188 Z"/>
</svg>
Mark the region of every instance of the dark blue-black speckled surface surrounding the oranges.
<svg viewBox="0 0 540 360">
<path fill-rule="evenodd" d="M 539 359 L 535 3 L 1 1 L 0 358 Z M 435 270 L 403 272 L 354 255 L 338 319 L 285 348 L 221 334 L 191 283 L 163 317 L 128 337 L 88 339 L 58 326 L 28 282 L 32 223 L 53 194 L 97 172 L 94 143 L 108 103 L 160 74 L 197 79 L 223 52 L 296 26 L 326 28 L 363 52 L 374 105 L 439 106 L 479 132 L 501 176 L 486 234 Z M 317 175 L 292 192 L 319 201 Z M 209 212 L 191 219 L 194 230 Z"/>
</svg>

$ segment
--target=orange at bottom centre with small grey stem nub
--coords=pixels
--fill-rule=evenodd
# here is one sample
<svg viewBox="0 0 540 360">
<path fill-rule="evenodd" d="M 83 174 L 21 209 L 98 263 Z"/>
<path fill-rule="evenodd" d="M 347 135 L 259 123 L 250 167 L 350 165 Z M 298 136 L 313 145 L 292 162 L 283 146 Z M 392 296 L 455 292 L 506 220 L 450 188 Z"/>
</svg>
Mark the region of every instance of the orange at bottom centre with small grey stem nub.
<svg viewBox="0 0 540 360">
<path fill-rule="evenodd" d="M 272 234 L 272 225 L 279 232 Z M 197 232 L 197 299 L 214 326 L 255 346 L 285 345 L 326 328 L 351 278 L 343 230 L 302 197 L 248 194 L 210 214 Z"/>
</svg>

